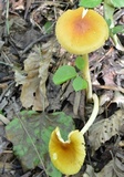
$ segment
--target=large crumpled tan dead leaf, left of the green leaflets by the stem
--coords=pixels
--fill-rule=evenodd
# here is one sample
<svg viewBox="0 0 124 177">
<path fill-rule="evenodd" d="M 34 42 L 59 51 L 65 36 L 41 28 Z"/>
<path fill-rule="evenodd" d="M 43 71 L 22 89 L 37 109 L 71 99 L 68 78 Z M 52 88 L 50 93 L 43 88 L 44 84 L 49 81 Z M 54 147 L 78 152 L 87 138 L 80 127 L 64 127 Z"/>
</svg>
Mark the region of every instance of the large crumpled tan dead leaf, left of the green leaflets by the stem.
<svg viewBox="0 0 124 177">
<path fill-rule="evenodd" d="M 37 45 L 24 61 L 24 71 L 14 70 L 17 85 L 22 84 L 21 102 L 23 107 L 32 106 L 34 111 L 43 111 L 48 105 L 45 81 L 51 61 L 51 43 Z"/>
</svg>

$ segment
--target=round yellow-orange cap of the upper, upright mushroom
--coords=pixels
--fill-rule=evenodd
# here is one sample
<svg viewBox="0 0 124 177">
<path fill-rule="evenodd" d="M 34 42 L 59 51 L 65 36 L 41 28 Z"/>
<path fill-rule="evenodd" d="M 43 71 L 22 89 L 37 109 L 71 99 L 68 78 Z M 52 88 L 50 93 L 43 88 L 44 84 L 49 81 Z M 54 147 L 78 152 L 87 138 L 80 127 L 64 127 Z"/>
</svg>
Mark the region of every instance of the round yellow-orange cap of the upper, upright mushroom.
<svg viewBox="0 0 124 177">
<path fill-rule="evenodd" d="M 79 8 L 68 10 L 59 18 L 55 34 L 70 53 L 86 54 L 104 44 L 108 38 L 108 27 L 96 11 Z"/>
</svg>

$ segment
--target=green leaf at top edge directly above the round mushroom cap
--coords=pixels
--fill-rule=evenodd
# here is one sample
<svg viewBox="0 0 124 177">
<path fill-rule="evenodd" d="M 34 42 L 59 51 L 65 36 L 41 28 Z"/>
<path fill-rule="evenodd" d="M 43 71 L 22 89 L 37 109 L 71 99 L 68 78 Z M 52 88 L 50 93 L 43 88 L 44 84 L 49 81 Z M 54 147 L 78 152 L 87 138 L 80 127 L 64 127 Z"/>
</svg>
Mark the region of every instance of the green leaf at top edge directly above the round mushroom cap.
<svg viewBox="0 0 124 177">
<path fill-rule="evenodd" d="M 80 7 L 95 8 L 102 2 L 102 0 L 80 0 Z"/>
</svg>

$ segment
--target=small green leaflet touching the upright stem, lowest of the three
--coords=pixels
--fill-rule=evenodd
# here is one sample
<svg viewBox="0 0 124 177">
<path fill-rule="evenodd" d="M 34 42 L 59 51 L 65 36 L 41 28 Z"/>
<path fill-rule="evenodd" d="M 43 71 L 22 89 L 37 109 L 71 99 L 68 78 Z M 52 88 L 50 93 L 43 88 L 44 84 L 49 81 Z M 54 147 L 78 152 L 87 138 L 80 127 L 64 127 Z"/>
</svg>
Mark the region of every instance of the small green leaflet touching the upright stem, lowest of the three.
<svg viewBox="0 0 124 177">
<path fill-rule="evenodd" d="M 74 91 L 81 91 L 81 90 L 87 88 L 87 82 L 83 80 L 81 76 L 78 76 L 76 79 L 74 79 L 72 85 Z"/>
</svg>

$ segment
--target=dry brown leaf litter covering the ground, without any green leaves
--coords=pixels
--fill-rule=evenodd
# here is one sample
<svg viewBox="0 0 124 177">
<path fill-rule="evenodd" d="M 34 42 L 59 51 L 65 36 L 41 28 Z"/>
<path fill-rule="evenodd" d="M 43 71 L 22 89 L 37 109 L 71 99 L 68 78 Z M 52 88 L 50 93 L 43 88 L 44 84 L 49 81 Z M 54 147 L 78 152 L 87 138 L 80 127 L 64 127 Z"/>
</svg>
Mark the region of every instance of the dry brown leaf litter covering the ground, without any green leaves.
<svg viewBox="0 0 124 177">
<path fill-rule="evenodd" d="M 79 129 L 84 126 L 91 115 L 93 104 L 86 103 L 84 91 L 78 94 L 73 91 L 71 82 L 54 85 L 52 81 L 60 65 L 74 65 L 76 56 L 60 46 L 54 27 L 63 11 L 75 7 L 78 7 L 76 1 L 66 0 L 10 0 L 9 4 L 8 1 L 0 0 L 0 177 L 45 176 L 42 166 L 24 170 L 14 155 L 12 143 L 7 138 L 6 126 L 21 111 L 35 110 L 40 113 L 61 111 L 73 117 L 75 127 Z M 123 22 L 124 14 L 115 21 L 115 23 Z M 50 29 L 46 25 L 50 25 Z M 124 44 L 124 35 L 120 34 L 118 38 Z M 37 65 L 39 48 L 48 70 Z M 37 54 L 32 55 L 34 52 Z M 29 62 L 25 64 L 27 59 Z M 35 60 L 32 61 L 32 59 Z M 25 69 L 28 66 L 30 69 Z M 33 72 L 38 74 L 38 69 L 42 72 L 41 77 L 44 74 L 42 81 L 39 81 Z M 100 98 L 96 122 L 103 121 L 101 124 L 106 126 L 108 138 L 104 136 L 105 131 L 101 129 L 101 136 L 104 136 L 103 143 L 97 145 L 93 139 L 95 140 L 94 136 L 97 136 L 96 133 L 100 133 L 100 129 L 96 133 L 92 129 L 86 133 L 86 159 L 81 171 L 73 177 L 81 177 L 86 173 L 89 177 L 99 177 L 99 173 L 107 176 L 105 173 L 107 174 L 108 170 L 114 174 L 113 176 L 122 177 L 124 175 L 124 121 L 118 121 L 116 117 L 123 118 L 124 114 L 124 51 L 117 50 L 110 38 L 101 49 L 90 54 L 90 71 L 93 92 Z M 33 76 L 27 77 L 28 73 Z M 24 84 L 30 83 L 30 79 L 37 83 L 27 87 Z M 35 85 L 42 85 L 43 103 L 43 97 L 39 101 L 40 86 L 38 91 Z M 32 93 L 33 96 L 30 97 Z M 108 132 L 110 119 L 114 125 L 112 134 Z M 101 128 L 100 125 L 97 126 Z"/>
</svg>

